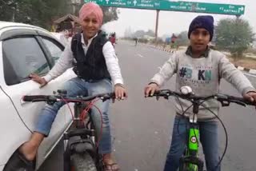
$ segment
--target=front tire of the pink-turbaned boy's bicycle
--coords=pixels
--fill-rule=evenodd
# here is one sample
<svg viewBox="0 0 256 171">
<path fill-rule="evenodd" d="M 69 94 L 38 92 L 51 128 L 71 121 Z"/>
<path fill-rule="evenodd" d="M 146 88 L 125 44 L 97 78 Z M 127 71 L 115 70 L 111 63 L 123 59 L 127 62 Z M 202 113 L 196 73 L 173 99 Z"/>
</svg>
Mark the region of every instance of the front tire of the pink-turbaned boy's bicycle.
<svg viewBox="0 0 256 171">
<path fill-rule="evenodd" d="M 71 171 L 97 171 L 97 167 L 89 153 L 74 153 L 70 157 Z"/>
</svg>

